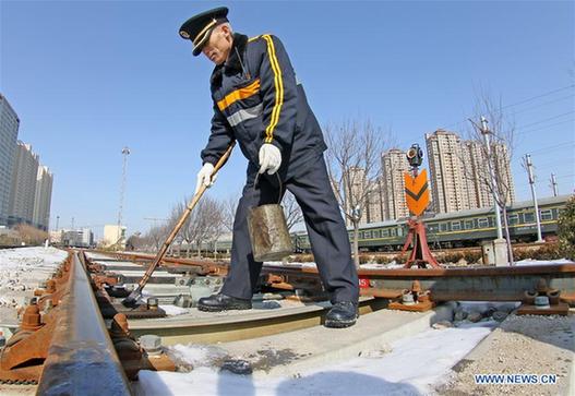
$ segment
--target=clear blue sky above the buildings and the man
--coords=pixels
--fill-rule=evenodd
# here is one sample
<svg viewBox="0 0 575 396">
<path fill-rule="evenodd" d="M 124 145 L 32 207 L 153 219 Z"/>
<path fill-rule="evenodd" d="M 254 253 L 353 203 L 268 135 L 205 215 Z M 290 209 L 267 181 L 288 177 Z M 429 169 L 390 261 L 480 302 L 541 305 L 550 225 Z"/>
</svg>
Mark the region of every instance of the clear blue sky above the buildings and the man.
<svg viewBox="0 0 575 396">
<path fill-rule="evenodd" d="M 530 196 L 519 158 L 531 151 L 539 196 L 551 195 L 552 171 L 560 193 L 573 190 L 572 1 L 1 0 L 0 92 L 21 119 L 19 137 L 55 173 L 51 227 L 57 215 L 60 227 L 74 217 L 98 235 L 116 224 L 124 145 L 129 232 L 193 192 L 213 67 L 178 28 L 223 4 L 237 32 L 281 38 L 320 123 L 370 118 L 402 148 L 424 145 L 427 132 L 457 132 L 486 86 L 519 103 L 508 108 L 517 199 Z M 209 193 L 239 193 L 244 169 L 237 151 Z"/>
</svg>

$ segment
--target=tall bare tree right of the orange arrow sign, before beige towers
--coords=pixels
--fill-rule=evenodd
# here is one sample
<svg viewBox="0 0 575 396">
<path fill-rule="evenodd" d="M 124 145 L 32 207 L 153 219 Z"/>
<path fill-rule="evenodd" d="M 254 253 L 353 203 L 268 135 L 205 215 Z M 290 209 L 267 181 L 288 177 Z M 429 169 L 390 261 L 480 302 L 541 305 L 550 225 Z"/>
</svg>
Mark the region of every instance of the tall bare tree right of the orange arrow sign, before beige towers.
<svg viewBox="0 0 575 396">
<path fill-rule="evenodd" d="M 475 113 L 481 115 L 483 122 L 470 120 L 474 128 L 468 131 L 468 136 L 479 147 L 483 166 L 481 164 L 464 166 L 465 178 L 477 180 L 479 189 L 486 189 L 493 196 L 503 221 L 507 259 L 513 265 L 507 205 L 515 197 L 513 196 L 513 178 L 508 175 L 507 169 L 510 169 L 508 164 L 513 157 L 515 121 L 511 115 L 505 113 L 501 97 L 494 100 L 486 91 L 478 95 Z M 486 144 L 486 141 L 489 143 Z"/>
</svg>

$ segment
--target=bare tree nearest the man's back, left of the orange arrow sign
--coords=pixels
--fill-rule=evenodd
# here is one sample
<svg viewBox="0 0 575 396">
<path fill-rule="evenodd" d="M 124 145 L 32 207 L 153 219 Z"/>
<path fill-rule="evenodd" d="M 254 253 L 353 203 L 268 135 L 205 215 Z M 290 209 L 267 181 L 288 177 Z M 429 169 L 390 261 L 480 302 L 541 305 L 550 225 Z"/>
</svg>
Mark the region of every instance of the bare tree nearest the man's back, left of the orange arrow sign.
<svg viewBox="0 0 575 396">
<path fill-rule="evenodd" d="M 388 135 L 375 130 L 369 120 L 325 127 L 330 179 L 346 223 L 354 226 L 352 251 L 358 268 L 361 213 L 367 212 L 370 184 L 381 176 L 380 156 Z"/>
</svg>

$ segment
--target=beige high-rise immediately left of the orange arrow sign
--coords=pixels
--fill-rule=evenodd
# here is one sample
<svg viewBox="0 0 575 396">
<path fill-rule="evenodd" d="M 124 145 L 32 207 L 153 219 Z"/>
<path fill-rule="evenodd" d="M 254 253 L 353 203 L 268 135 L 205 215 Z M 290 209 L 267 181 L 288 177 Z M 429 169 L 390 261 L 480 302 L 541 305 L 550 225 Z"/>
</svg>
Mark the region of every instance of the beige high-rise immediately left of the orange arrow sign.
<svg viewBox="0 0 575 396">
<path fill-rule="evenodd" d="M 409 171 L 405 152 L 392 148 L 382 155 L 382 190 L 384 219 L 408 217 L 409 209 L 405 199 L 404 173 Z"/>
</svg>

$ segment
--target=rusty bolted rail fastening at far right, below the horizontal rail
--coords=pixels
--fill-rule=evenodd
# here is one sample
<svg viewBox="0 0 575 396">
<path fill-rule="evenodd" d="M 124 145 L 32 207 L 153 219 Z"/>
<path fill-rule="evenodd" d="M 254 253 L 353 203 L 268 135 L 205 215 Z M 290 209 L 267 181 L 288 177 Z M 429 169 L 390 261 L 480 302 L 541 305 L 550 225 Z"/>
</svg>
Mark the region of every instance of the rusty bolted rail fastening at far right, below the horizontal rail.
<svg viewBox="0 0 575 396">
<path fill-rule="evenodd" d="M 535 290 L 525 290 L 524 299 L 517 309 L 517 315 L 563 315 L 568 314 L 570 305 L 561 301 L 561 291 L 547 286 L 544 278 L 539 278 Z"/>
</svg>

